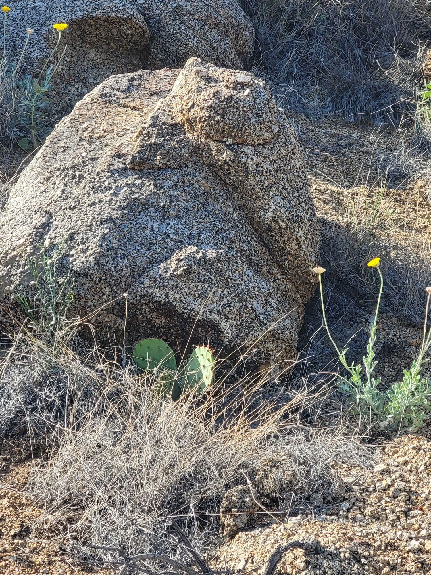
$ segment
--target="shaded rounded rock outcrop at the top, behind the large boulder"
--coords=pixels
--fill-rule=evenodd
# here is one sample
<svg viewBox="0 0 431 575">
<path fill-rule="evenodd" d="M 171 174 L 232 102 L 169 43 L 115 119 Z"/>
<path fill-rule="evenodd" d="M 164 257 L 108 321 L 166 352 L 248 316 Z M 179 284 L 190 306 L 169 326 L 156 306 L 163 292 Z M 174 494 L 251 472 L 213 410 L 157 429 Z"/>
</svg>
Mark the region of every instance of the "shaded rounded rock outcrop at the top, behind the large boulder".
<svg viewBox="0 0 431 575">
<path fill-rule="evenodd" d="M 88 91 L 112 74 L 181 67 L 191 56 L 218 65 L 245 67 L 254 31 L 236 0 L 18 0 L 7 14 L 6 53 L 14 63 L 24 54 L 37 78 L 55 47 L 54 22 L 67 22 L 50 64 L 67 44 L 53 82 L 56 111 L 67 113 Z"/>
</svg>

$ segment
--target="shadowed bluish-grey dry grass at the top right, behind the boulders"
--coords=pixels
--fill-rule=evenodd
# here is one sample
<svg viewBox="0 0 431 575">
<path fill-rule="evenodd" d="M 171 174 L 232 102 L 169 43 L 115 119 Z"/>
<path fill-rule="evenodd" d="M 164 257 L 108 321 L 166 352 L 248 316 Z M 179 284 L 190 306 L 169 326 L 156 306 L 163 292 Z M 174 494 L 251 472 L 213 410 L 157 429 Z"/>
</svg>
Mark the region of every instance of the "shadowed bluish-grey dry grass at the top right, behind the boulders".
<svg viewBox="0 0 431 575">
<path fill-rule="evenodd" d="M 330 112 L 352 121 L 390 121 L 414 110 L 421 83 L 418 45 L 431 11 L 410 0 L 241 0 L 257 34 L 256 63 L 288 83 L 298 109 L 315 89 Z M 317 98 L 321 98 L 318 94 Z M 303 102 L 303 104 L 301 104 Z"/>
</svg>

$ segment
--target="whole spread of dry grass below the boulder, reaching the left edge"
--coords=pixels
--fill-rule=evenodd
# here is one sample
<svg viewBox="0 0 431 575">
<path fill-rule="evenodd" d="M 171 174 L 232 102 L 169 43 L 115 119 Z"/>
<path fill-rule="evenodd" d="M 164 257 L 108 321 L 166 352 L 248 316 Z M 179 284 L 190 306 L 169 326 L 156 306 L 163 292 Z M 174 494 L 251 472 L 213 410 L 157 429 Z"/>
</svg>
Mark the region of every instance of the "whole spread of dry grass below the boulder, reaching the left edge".
<svg viewBox="0 0 431 575">
<path fill-rule="evenodd" d="M 294 454 L 320 477 L 333 459 L 364 459 L 355 442 L 310 435 L 300 421 L 313 395 L 284 390 L 274 369 L 231 374 L 201 398 L 172 402 L 134 366 L 40 342 L 22 331 L 3 356 L 2 431 L 28 428 L 39 444 L 45 437 L 30 487 L 57 534 L 68 533 L 87 561 L 133 571 L 130 558 L 150 554 L 135 572 L 166 570 L 161 557 L 190 565 L 176 527 L 199 554 L 210 553 L 223 494 L 244 476 L 255 482 L 265 458 Z M 332 477 L 324 484 L 330 490 Z"/>
</svg>

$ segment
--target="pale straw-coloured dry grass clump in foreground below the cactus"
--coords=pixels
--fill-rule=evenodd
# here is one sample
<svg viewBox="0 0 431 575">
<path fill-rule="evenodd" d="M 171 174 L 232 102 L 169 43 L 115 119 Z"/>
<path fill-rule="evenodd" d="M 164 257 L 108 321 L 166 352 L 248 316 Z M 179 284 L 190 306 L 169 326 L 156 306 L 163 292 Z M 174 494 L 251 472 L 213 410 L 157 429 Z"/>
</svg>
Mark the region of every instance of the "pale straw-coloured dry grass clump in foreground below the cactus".
<svg viewBox="0 0 431 575">
<path fill-rule="evenodd" d="M 61 430 L 55 453 L 33 474 L 33 493 L 50 515 L 61 509 L 59 520 L 69 517 L 87 560 L 122 563 L 158 553 L 187 564 L 172 522 L 207 555 L 217 543 L 222 495 L 244 475 L 253 481 L 262 459 L 288 450 L 299 465 L 316 466 L 322 479 L 341 454 L 344 461 L 363 455 L 354 442 L 309 440 L 305 430 L 288 441 L 297 421 L 280 416 L 292 404 L 274 412 L 261 397 L 254 408 L 257 382 L 243 380 L 226 393 L 216 388 L 202 403 L 161 401 L 147 385 L 126 371 L 121 381 L 107 382 L 103 402 L 78 431 Z M 332 492 L 330 474 L 323 485 Z M 160 568 L 145 559 L 144 569 Z"/>
</svg>

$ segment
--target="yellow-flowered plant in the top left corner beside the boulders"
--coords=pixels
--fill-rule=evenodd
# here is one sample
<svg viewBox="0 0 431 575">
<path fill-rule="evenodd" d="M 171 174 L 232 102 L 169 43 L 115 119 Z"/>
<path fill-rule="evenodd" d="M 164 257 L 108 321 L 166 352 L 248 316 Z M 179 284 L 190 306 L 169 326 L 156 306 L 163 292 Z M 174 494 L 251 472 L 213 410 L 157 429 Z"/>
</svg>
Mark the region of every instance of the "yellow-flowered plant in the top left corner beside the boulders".
<svg viewBox="0 0 431 575">
<path fill-rule="evenodd" d="M 33 30 L 27 29 L 27 37 L 16 64 L 11 64 L 6 55 L 6 22 L 10 9 L 2 7 L 3 13 L 3 51 L 0 54 L 0 142 L 18 144 L 24 150 L 31 150 L 43 143 L 53 127 L 49 116 L 51 100 L 49 91 L 52 89 L 52 78 L 63 58 L 60 55 L 56 65 L 50 64 L 61 40 L 61 32 L 67 24 L 54 24 L 58 33 L 57 43 L 49 55 L 37 78 L 30 74 L 22 74 L 22 59 L 28 49 Z"/>
</svg>

